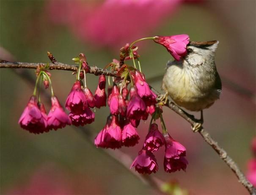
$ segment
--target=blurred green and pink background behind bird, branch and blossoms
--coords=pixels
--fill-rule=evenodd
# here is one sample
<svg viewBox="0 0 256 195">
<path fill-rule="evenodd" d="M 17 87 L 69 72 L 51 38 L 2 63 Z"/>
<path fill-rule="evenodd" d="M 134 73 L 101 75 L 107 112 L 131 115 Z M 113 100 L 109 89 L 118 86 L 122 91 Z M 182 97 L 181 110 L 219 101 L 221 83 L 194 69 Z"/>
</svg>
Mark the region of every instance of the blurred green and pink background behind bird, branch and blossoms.
<svg viewBox="0 0 256 195">
<path fill-rule="evenodd" d="M 216 64 L 223 92 L 204 111 L 204 127 L 246 173 L 256 125 L 255 8 L 254 0 L 1 0 L 0 58 L 45 63 L 50 62 L 47 51 L 51 51 L 57 61 L 73 64 L 71 59 L 83 52 L 89 65 L 103 68 L 118 58 L 121 46 L 138 38 L 188 34 L 191 41 L 218 40 Z M 171 55 L 153 41 L 138 46 L 142 71 L 160 90 Z M 55 95 L 64 105 L 75 77 L 68 71 L 51 73 Z M 74 127 L 40 135 L 21 129 L 18 120 L 33 93 L 31 77 L 35 78 L 34 70 L 0 70 L 0 194 L 157 194 L 86 137 L 86 131 L 96 134 L 105 125 L 107 107 L 96 109 L 95 122 L 83 127 L 85 133 Z M 96 76 L 87 76 L 93 92 L 97 81 Z M 43 102 L 49 110 L 49 99 Z M 187 148 L 189 165 L 186 172 L 165 173 L 162 148 L 156 154 L 155 177 L 176 181 L 189 194 L 248 194 L 184 119 L 167 108 L 164 119 L 172 137 Z M 139 144 L 121 149 L 132 159 L 142 147 L 148 125 L 146 121 L 138 127 Z"/>
</svg>

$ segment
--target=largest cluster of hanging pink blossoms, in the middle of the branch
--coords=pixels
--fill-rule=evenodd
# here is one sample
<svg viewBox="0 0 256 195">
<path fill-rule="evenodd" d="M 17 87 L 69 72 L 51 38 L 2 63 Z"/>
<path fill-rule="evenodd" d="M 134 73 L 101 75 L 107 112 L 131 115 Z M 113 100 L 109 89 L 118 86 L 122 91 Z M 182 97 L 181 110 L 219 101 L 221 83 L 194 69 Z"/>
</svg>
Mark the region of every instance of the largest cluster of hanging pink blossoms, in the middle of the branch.
<svg viewBox="0 0 256 195">
<path fill-rule="evenodd" d="M 134 85 L 129 90 L 127 86 L 119 87 L 124 85 L 122 79 L 116 79 L 113 86 L 108 87 L 110 116 L 95 138 L 97 147 L 116 149 L 138 144 L 140 137 L 136 128 L 140 120 L 146 120 L 149 114 L 154 113 L 157 96 L 150 89 L 143 73 L 134 70 L 130 74 Z"/>
</svg>

